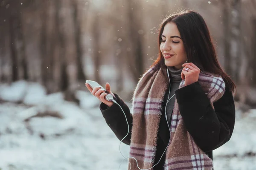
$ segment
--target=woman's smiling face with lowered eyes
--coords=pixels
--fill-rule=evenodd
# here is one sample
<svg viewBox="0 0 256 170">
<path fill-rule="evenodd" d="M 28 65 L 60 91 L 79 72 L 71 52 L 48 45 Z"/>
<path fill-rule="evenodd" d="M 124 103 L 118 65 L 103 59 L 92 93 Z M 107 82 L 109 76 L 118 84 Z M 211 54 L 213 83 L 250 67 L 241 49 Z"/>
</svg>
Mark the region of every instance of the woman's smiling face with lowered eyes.
<svg viewBox="0 0 256 170">
<path fill-rule="evenodd" d="M 161 36 L 160 51 L 163 54 L 165 65 L 179 70 L 186 62 L 187 55 L 176 24 L 167 23 Z"/>
</svg>

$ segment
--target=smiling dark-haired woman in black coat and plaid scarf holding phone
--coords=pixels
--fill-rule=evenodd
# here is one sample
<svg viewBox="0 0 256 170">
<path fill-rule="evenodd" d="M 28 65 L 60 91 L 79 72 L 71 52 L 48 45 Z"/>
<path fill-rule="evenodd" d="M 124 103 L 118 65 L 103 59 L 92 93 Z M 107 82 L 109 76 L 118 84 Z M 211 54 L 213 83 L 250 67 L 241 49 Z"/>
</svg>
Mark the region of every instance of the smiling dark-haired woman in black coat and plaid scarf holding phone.
<svg viewBox="0 0 256 170">
<path fill-rule="evenodd" d="M 140 169 L 212 170 L 212 150 L 233 133 L 236 86 L 219 65 L 207 25 L 195 11 L 163 21 L 159 49 L 134 91 L 133 114 L 106 84 L 125 112 L 129 133 L 121 108 L 104 98 L 105 91 L 86 86 L 102 101 L 100 110 L 117 138 L 128 133 L 122 142 L 131 145 Z M 139 170 L 135 159 L 129 162 L 129 169 Z"/>
</svg>

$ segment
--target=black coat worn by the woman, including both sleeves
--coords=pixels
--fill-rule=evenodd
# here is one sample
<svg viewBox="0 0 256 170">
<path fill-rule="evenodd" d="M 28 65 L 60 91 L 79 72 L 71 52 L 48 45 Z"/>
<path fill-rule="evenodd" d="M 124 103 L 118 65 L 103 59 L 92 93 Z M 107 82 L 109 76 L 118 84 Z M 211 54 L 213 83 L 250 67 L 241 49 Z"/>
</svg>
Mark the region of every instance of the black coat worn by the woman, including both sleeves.
<svg viewBox="0 0 256 170">
<path fill-rule="evenodd" d="M 212 109 L 209 99 L 206 94 L 204 94 L 198 82 L 177 89 L 175 95 L 187 131 L 198 147 L 212 159 L 212 150 L 215 150 L 229 141 L 233 133 L 235 124 L 235 104 L 232 93 L 226 88 L 221 99 L 213 103 L 215 110 Z M 130 129 L 128 136 L 122 142 L 130 145 L 132 114 L 125 102 L 118 95 L 115 94 L 115 96 L 117 103 L 125 112 Z M 165 105 L 166 104 L 163 102 L 163 108 L 165 108 Z M 100 110 L 108 126 L 121 141 L 128 132 L 127 122 L 121 108 L 115 103 L 110 108 L 104 103 L 101 103 Z M 155 164 L 162 156 L 169 142 L 169 136 L 166 118 L 165 116 L 161 116 Z M 164 160 L 165 154 L 153 169 L 162 170 Z"/>
</svg>

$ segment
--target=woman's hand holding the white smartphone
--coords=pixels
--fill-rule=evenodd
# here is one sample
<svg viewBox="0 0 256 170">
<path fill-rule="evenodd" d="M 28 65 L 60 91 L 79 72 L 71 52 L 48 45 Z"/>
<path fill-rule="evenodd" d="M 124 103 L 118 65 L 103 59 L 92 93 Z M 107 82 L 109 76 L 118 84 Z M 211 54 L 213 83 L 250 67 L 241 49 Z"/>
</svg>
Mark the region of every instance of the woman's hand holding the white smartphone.
<svg viewBox="0 0 256 170">
<path fill-rule="evenodd" d="M 91 88 L 90 85 L 88 85 L 87 83 L 85 83 L 85 86 L 87 87 L 87 89 L 91 92 L 91 94 L 93 96 L 96 96 L 101 102 L 103 102 L 105 105 L 108 105 L 108 107 L 111 107 L 114 102 L 110 102 L 108 100 L 105 99 L 105 96 L 107 96 L 107 94 L 111 94 L 112 96 L 116 97 L 112 91 L 110 90 L 110 85 L 108 83 L 106 83 L 106 91 L 108 93 L 106 93 L 103 89 L 101 89 L 100 87 L 94 87 Z"/>
</svg>

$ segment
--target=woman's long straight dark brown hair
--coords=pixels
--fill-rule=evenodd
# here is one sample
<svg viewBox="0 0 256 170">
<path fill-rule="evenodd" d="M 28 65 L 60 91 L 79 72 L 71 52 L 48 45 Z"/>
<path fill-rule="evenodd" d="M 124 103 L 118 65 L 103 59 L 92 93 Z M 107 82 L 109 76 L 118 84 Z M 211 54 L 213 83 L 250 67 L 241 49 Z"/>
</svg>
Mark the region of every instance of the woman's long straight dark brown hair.
<svg viewBox="0 0 256 170">
<path fill-rule="evenodd" d="M 164 69 L 166 68 L 166 65 L 164 63 L 163 54 L 160 51 L 160 44 L 163 28 L 170 22 L 177 25 L 186 50 L 188 62 L 193 62 L 205 74 L 220 75 L 223 78 L 226 87 L 234 93 L 236 85 L 221 68 L 204 18 L 201 14 L 198 14 L 195 11 L 177 12 L 163 20 L 163 23 L 160 24 L 159 28 L 159 56 L 151 67 L 155 66 L 155 70 L 160 68 L 162 68 L 162 71 L 166 70 Z"/>
</svg>

